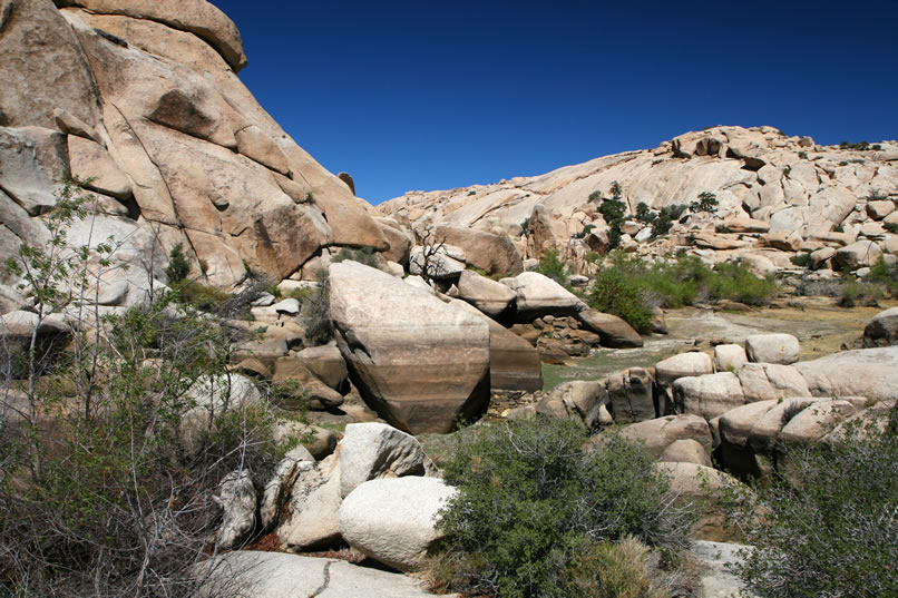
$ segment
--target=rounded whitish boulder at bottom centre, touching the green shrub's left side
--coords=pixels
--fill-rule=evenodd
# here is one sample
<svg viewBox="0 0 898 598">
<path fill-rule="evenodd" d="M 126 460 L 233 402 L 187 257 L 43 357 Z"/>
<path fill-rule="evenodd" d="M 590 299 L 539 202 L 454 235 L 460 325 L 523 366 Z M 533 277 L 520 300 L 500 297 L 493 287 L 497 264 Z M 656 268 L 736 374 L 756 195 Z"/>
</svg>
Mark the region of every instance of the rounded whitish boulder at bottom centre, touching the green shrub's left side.
<svg viewBox="0 0 898 598">
<path fill-rule="evenodd" d="M 340 533 L 352 548 L 389 567 L 416 569 L 442 538 L 437 513 L 455 492 L 437 478 L 365 482 L 343 500 Z"/>
</svg>

